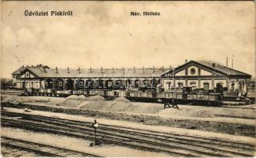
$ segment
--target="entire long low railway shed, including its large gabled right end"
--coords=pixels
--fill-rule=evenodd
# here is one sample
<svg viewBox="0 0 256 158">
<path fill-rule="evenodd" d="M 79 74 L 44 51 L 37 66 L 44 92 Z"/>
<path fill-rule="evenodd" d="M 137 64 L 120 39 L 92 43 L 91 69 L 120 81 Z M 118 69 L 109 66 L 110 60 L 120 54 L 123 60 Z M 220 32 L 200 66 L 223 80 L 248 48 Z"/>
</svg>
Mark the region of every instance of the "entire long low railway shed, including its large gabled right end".
<svg viewBox="0 0 256 158">
<path fill-rule="evenodd" d="M 12 73 L 14 88 L 125 89 L 156 88 L 165 91 L 192 87 L 227 92 L 246 92 L 251 75 L 216 62 L 190 61 L 177 68 L 51 69 L 21 66 Z"/>
</svg>

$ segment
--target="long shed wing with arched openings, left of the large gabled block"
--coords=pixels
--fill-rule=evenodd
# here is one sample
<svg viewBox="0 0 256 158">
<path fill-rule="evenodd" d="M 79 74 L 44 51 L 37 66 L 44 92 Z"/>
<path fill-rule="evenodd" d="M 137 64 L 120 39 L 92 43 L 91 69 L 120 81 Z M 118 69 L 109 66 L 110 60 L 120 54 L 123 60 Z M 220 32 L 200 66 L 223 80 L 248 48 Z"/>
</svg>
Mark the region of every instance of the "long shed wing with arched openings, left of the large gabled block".
<svg viewBox="0 0 256 158">
<path fill-rule="evenodd" d="M 161 68 L 132 69 L 50 69 L 48 66 L 22 66 L 13 74 L 15 88 L 73 89 L 124 89 L 153 88 L 160 83 Z"/>
</svg>

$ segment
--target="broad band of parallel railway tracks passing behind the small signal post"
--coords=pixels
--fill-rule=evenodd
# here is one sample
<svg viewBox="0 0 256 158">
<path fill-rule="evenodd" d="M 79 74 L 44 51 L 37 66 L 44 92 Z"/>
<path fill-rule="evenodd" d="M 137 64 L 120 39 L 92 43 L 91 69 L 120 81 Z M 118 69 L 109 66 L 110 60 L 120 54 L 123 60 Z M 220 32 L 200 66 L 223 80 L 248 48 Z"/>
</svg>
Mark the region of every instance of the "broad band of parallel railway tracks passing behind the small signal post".
<svg viewBox="0 0 256 158">
<path fill-rule="evenodd" d="M 29 130 L 43 130 L 73 137 L 94 139 L 90 122 L 71 121 L 37 115 L 2 112 L 2 126 L 14 126 Z M 128 146 L 155 152 L 167 152 L 171 156 L 253 156 L 254 145 L 216 140 L 211 138 L 190 137 L 179 134 L 162 134 L 147 130 L 135 130 L 119 126 L 101 125 L 97 138 L 105 144 Z"/>
</svg>

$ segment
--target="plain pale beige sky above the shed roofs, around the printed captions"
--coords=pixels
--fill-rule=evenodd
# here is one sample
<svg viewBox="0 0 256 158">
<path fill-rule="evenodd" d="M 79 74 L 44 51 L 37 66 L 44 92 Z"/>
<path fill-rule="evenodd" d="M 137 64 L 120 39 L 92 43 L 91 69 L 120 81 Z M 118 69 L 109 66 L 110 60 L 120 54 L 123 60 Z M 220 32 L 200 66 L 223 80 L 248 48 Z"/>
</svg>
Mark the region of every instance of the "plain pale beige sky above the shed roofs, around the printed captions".
<svg viewBox="0 0 256 158">
<path fill-rule="evenodd" d="M 25 10 L 72 17 L 25 17 Z M 160 16 L 130 16 L 131 11 Z M 254 2 L 2 2 L 1 77 L 20 66 L 132 68 L 213 60 L 255 75 Z"/>
</svg>

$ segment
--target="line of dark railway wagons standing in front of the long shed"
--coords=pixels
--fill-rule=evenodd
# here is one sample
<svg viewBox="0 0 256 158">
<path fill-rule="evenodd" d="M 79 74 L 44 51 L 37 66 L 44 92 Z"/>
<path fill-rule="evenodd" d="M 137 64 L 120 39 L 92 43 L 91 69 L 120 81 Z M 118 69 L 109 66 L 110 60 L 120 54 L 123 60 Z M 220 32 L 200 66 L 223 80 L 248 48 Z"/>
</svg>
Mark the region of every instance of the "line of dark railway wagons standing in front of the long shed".
<svg viewBox="0 0 256 158">
<path fill-rule="evenodd" d="M 147 92 L 147 91 L 125 91 L 125 90 L 103 90 L 103 89 L 82 89 L 82 90 L 55 90 L 55 89 L 28 89 L 28 95 L 40 96 L 105 96 L 113 99 L 123 96 L 128 100 L 142 102 L 160 102 L 160 103 L 184 103 L 184 104 L 200 104 L 207 106 L 220 106 L 222 104 L 222 96 L 220 93 L 208 91 L 192 91 L 191 88 L 183 88 L 180 91 L 170 92 Z"/>
</svg>

